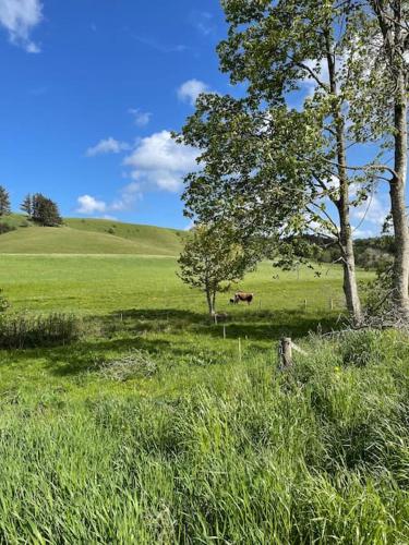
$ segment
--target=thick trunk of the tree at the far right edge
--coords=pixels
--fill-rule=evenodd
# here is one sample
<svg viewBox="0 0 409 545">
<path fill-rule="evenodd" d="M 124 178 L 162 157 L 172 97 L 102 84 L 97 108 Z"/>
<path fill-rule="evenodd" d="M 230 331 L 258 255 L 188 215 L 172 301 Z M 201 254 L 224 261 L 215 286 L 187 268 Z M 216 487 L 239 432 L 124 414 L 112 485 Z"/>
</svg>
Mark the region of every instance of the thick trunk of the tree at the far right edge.
<svg viewBox="0 0 409 545">
<path fill-rule="evenodd" d="M 398 76 L 395 98 L 395 175 L 390 181 L 390 208 L 395 232 L 394 300 L 397 310 L 409 317 L 409 230 L 405 189 L 408 169 L 408 99 L 405 75 Z"/>
</svg>

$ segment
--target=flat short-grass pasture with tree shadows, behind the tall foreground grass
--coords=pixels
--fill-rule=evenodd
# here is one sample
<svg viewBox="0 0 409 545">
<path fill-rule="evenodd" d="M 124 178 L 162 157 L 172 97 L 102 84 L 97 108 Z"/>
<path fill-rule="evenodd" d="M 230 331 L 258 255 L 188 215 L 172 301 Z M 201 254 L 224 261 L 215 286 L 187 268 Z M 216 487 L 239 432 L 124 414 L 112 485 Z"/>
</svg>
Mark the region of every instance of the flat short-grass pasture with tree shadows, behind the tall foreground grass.
<svg viewBox="0 0 409 545">
<path fill-rule="evenodd" d="M 228 320 L 215 325 L 204 294 L 178 278 L 175 257 L 56 254 L 2 255 L 0 261 L 10 313 L 62 312 L 83 320 L 83 338 L 74 346 L 1 353 L 3 388 L 29 395 L 43 386 L 62 387 L 69 390 L 62 397 L 79 399 L 110 391 L 112 385 L 96 380 L 88 370 L 133 348 L 154 353 L 167 377 L 115 385 L 118 395 L 184 395 L 197 382 L 214 383 L 217 374 L 224 382 L 224 365 L 237 360 L 239 339 L 243 354 L 262 351 L 273 361 L 280 336 L 329 331 L 345 313 L 337 266 L 284 272 L 262 263 L 239 286 L 254 292 L 252 305 L 230 305 L 232 287 L 218 295 L 218 310 Z M 191 360 L 212 361 L 212 373 L 204 364 L 192 374 Z"/>
</svg>

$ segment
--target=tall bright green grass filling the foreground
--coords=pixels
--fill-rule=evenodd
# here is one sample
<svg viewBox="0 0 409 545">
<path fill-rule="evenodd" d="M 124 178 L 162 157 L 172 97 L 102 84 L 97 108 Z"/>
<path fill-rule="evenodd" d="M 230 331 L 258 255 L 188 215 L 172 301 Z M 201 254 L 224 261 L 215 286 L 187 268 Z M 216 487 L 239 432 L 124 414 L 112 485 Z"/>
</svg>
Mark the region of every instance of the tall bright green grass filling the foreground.
<svg viewBox="0 0 409 545">
<path fill-rule="evenodd" d="M 177 399 L 3 399 L 0 541 L 407 543 L 408 339 L 304 348 Z"/>
</svg>

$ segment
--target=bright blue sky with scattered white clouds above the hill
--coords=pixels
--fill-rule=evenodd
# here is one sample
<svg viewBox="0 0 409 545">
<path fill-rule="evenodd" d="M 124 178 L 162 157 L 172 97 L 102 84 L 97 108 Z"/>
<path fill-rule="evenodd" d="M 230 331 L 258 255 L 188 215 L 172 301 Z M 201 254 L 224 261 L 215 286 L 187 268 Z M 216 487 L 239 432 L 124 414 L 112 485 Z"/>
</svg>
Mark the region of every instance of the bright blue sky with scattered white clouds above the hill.
<svg viewBox="0 0 409 545">
<path fill-rule="evenodd" d="M 232 93 L 215 51 L 226 31 L 219 0 L 0 0 L 0 184 L 13 209 L 41 192 L 64 217 L 188 228 L 196 153 L 170 131 L 199 93 Z M 381 191 L 353 210 L 356 235 L 380 232 L 387 208 Z"/>
</svg>

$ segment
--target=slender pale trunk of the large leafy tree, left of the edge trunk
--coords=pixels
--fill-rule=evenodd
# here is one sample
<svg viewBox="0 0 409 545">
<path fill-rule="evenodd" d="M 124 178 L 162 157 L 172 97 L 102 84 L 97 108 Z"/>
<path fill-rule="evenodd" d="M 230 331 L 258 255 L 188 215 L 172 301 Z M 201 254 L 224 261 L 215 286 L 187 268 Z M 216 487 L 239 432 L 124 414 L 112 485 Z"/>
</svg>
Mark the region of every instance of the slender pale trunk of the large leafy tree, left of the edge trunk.
<svg viewBox="0 0 409 545">
<path fill-rule="evenodd" d="M 329 33 L 326 33 L 326 45 L 330 94 L 334 95 L 334 97 L 337 97 L 337 69 L 332 50 L 332 39 Z M 347 152 L 345 144 L 345 120 L 341 113 L 340 105 L 335 106 L 333 116 L 339 180 L 339 198 L 336 203 L 336 206 L 339 214 L 338 243 L 340 246 L 344 265 L 344 293 L 347 302 L 347 308 L 350 316 L 352 317 L 353 324 L 359 325 L 362 322 L 362 307 L 358 293 L 353 239 L 350 225 L 349 180 L 347 171 Z"/>
</svg>

